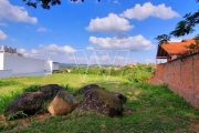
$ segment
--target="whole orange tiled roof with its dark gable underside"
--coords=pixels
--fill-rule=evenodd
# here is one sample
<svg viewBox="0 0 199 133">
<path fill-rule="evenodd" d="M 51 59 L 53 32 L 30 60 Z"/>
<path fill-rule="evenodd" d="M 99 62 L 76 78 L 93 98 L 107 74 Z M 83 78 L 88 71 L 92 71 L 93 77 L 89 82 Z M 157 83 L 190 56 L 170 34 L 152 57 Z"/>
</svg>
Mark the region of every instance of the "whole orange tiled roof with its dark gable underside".
<svg viewBox="0 0 199 133">
<path fill-rule="evenodd" d="M 169 42 L 158 45 L 157 59 L 166 59 L 168 55 L 184 55 L 188 45 L 195 43 L 193 39 L 182 40 L 181 42 Z"/>
</svg>

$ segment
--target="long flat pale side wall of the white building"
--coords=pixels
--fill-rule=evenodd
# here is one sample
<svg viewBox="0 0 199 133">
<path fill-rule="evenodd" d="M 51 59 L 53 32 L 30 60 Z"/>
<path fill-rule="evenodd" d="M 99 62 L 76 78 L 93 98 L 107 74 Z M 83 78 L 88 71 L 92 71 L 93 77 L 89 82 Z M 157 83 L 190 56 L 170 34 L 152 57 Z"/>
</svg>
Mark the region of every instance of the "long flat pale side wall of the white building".
<svg viewBox="0 0 199 133">
<path fill-rule="evenodd" d="M 45 60 L 31 59 L 4 53 L 3 70 L 12 70 L 12 74 L 44 72 Z"/>
</svg>

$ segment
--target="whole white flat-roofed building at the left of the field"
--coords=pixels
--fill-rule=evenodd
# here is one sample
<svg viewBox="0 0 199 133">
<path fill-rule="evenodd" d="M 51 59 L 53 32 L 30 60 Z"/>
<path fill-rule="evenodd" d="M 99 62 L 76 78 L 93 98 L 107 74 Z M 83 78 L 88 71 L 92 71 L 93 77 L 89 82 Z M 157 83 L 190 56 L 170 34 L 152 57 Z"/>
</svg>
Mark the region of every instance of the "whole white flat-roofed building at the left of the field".
<svg viewBox="0 0 199 133">
<path fill-rule="evenodd" d="M 0 47 L 0 78 L 45 75 L 54 70 L 59 70 L 57 62 L 25 58 L 17 49 Z"/>
</svg>

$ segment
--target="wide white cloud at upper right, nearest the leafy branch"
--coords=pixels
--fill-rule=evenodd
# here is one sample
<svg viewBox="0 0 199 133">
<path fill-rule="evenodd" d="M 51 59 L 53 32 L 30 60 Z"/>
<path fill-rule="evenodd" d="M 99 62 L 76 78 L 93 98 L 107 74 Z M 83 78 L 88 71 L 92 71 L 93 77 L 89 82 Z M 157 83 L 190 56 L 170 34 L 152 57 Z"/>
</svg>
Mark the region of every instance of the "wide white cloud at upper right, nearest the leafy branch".
<svg viewBox="0 0 199 133">
<path fill-rule="evenodd" d="M 146 2 L 143 6 L 136 4 L 134 8 L 127 9 L 121 14 L 121 17 L 138 20 L 144 20 L 148 17 L 171 19 L 179 17 L 179 13 L 174 11 L 171 7 L 166 7 L 165 3 L 153 6 L 150 2 Z"/>
</svg>

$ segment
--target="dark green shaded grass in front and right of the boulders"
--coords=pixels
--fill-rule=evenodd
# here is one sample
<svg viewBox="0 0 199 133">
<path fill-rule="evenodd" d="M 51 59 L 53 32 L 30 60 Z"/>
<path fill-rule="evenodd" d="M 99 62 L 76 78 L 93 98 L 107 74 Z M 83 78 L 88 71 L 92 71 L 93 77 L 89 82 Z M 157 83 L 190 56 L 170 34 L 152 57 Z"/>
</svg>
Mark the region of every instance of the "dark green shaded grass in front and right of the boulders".
<svg viewBox="0 0 199 133">
<path fill-rule="evenodd" d="M 11 132 L 174 133 L 192 132 L 195 129 L 190 129 L 190 125 L 199 123 L 199 111 L 165 85 L 143 83 L 100 83 L 98 85 L 125 94 L 127 103 L 124 108 L 134 109 L 133 114 L 108 117 L 94 113 L 71 113 L 34 121 L 25 129 Z M 70 91 L 76 90 L 69 85 L 62 86 Z"/>
</svg>

